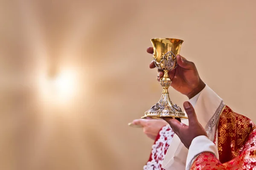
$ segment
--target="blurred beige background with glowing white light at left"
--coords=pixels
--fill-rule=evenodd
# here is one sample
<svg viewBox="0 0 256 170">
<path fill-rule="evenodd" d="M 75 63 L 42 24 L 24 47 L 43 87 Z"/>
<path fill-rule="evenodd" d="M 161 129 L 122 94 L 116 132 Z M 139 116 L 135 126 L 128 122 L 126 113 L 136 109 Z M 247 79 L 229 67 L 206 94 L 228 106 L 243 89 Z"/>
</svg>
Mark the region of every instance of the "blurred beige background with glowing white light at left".
<svg viewBox="0 0 256 170">
<path fill-rule="evenodd" d="M 256 121 L 255 6 L 1 0 L 0 169 L 141 170 L 153 141 L 127 124 L 161 95 L 145 51 L 154 37 L 184 40 L 204 82 Z"/>
</svg>

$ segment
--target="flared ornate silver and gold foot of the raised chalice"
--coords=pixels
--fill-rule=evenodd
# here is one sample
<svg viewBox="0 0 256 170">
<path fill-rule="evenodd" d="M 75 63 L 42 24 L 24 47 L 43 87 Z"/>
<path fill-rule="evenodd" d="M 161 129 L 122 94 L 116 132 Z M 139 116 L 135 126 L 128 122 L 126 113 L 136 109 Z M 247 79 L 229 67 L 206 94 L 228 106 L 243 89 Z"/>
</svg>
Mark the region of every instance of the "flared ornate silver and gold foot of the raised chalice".
<svg viewBox="0 0 256 170">
<path fill-rule="evenodd" d="M 181 108 L 176 104 L 173 104 L 169 93 L 163 93 L 160 100 L 152 106 L 145 115 L 141 118 L 143 119 L 162 119 L 163 117 L 173 117 L 180 119 L 188 119 L 185 113 L 182 112 Z"/>
</svg>

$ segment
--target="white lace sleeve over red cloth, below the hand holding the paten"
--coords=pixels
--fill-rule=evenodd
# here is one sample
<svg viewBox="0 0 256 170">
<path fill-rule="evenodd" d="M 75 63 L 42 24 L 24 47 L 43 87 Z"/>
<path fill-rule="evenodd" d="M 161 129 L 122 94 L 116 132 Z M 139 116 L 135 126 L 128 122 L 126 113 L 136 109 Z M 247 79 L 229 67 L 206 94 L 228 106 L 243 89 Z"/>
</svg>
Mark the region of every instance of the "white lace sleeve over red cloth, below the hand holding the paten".
<svg viewBox="0 0 256 170">
<path fill-rule="evenodd" d="M 159 132 L 159 139 L 153 144 L 151 151 L 151 161 L 143 167 L 143 170 L 161 170 L 164 156 L 168 150 L 174 132 L 170 125 L 164 126 Z"/>
</svg>

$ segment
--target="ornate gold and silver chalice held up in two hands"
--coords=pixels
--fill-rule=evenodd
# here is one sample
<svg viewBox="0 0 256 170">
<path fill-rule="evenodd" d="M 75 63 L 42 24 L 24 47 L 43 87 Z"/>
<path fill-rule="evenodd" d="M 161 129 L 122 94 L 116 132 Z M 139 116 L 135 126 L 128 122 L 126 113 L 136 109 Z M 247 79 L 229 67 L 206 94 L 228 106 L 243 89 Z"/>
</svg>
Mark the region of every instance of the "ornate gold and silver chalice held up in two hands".
<svg viewBox="0 0 256 170">
<path fill-rule="evenodd" d="M 160 100 L 146 111 L 142 118 L 162 119 L 163 117 L 173 117 L 187 119 L 181 108 L 172 103 L 168 92 L 168 88 L 172 83 L 168 72 L 177 67 L 176 55 L 180 53 L 180 47 L 183 40 L 173 38 L 154 38 L 151 39 L 151 43 L 154 48 L 154 64 L 158 69 L 164 72 L 163 77 L 160 79 L 163 92 Z"/>
</svg>

